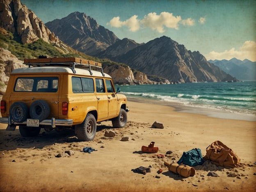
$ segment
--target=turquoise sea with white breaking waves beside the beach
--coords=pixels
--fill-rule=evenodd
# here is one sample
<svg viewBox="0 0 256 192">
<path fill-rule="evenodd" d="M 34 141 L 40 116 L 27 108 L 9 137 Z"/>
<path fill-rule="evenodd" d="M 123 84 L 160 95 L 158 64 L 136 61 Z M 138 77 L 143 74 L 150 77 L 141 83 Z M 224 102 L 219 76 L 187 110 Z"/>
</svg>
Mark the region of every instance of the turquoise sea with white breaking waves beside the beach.
<svg viewBox="0 0 256 192">
<path fill-rule="evenodd" d="M 256 115 L 256 81 L 118 87 L 128 98 L 139 97 Z"/>
</svg>

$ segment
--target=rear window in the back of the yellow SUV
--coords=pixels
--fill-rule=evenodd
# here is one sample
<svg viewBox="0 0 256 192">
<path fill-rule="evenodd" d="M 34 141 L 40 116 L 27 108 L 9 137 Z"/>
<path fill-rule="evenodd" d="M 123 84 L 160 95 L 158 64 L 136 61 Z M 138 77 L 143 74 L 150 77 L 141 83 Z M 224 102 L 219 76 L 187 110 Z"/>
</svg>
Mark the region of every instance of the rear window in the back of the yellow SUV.
<svg viewBox="0 0 256 192">
<path fill-rule="evenodd" d="M 57 92 L 57 77 L 17 78 L 14 91 L 17 92 Z"/>
</svg>

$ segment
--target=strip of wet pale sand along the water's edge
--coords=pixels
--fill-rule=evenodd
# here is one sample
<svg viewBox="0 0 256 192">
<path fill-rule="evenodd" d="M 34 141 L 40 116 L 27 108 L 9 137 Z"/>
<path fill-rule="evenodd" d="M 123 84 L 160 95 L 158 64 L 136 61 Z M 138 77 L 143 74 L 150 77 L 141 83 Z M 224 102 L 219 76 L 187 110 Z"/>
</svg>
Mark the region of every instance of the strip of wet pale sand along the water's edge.
<svg viewBox="0 0 256 192">
<path fill-rule="evenodd" d="M 202 115 L 206 115 L 208 117 L 214 117 L 214 118 L 218 118 L 218 119 L 256 121 L 256 115 L 252 115 L 252 114 L 235 113 L 235 112 L 229 112 L 229 111 L 206 108 L 206 107 L 182 105 L 181 103 L 158 101 L 158 100 L 153 100 L 153 99 L 149 99 L 149 98 L 139 98 L 139 97 L 127 96 L 127 99 L 128 99 L 128 101 L 133 101 L 133 102 L 138 102 L 138 103 L 167 105 L 167 106 L 173 107 L 176 112 L 202 114 Z"/>
</svg>

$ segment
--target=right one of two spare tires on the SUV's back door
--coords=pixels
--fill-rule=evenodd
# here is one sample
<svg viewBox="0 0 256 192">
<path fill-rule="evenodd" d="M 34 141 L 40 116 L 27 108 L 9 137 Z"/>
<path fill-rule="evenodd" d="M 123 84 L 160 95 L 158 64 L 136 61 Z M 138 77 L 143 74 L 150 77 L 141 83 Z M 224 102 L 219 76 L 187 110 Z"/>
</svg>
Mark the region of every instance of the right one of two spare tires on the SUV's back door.
<svg viewBox="0 0 256 192">
<path fill-rule="evenodd" d="M 46 101 L 37 100 L 30 105 L 30 117 L 43 121 L 50 114 L 50 107 Z"/>
</svg>

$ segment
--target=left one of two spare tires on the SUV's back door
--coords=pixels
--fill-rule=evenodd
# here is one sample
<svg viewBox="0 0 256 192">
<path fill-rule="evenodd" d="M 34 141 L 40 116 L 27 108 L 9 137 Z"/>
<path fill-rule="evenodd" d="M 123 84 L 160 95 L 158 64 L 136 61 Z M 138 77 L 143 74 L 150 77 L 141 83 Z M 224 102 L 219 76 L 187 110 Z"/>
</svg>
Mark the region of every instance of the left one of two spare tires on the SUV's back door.
<svg viewBox="0 0 256 192">
<path fill-rule="evenodd" d="M 22 123 L 27 119 L 28 107 L 23 102 L 15 102 L 10 107 L 10 116 L 14 122 Z"/>
</svg>

